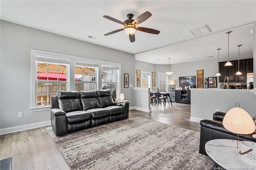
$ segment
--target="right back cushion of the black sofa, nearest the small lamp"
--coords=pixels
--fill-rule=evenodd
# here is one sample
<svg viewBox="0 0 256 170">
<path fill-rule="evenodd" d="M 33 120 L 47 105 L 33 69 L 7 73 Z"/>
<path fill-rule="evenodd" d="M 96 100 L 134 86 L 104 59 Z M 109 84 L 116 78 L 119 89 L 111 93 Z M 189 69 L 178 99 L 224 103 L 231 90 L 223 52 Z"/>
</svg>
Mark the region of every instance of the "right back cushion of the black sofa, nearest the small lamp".
<svg viewBox="0 0 256 170">
<path fill-rule="evenodd" d="M 111 91 L 109 89 L 97 90 L 97 96 L 101 108 L 114 105 L 114 100 L 111 96 Z"/>
</svg>

